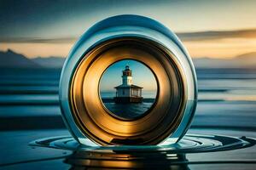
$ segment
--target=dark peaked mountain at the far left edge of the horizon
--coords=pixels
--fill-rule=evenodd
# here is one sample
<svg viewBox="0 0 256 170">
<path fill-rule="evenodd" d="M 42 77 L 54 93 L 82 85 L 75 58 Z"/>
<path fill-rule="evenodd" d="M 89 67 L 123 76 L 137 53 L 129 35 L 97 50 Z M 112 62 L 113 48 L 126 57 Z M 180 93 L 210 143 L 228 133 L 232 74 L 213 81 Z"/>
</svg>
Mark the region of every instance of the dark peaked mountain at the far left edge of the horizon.
<svg viewBox="0 0 256 170">
<path fill-rule="evenodd" d="M 38 68 L 40 65 L 27 59 L 22 54 L 16 54 L 8 49 L 6 52 L 0 51 L 0 68 Z"/>
</svg>

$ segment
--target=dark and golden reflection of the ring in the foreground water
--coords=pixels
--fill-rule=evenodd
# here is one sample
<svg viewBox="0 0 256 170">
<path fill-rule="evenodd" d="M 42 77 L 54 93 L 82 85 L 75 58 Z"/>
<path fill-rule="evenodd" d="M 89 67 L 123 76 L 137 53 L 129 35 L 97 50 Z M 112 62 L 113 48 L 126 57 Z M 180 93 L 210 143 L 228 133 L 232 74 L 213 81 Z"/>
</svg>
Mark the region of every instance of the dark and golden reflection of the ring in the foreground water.
<svg viewBox="0 0 256 170">
<path fill-rule="evenodd" d="M 112 154 L 88 153 L 84 150 L 77 150 L 73 155 L 68 156 L 66 163 L 71 164 L 71 169 L 81 168 L 118 168 L 118 169 L 134 169 L 134 168 L 154 168 L 154 169 L 189 169 L 185 162 L 185 154 L 166 154 L 166 153 L 143 153 L 143 154 L 124 154 L 113 150 Z M 184 163 L 183 163 L 184 162 Z"/>
</svg>

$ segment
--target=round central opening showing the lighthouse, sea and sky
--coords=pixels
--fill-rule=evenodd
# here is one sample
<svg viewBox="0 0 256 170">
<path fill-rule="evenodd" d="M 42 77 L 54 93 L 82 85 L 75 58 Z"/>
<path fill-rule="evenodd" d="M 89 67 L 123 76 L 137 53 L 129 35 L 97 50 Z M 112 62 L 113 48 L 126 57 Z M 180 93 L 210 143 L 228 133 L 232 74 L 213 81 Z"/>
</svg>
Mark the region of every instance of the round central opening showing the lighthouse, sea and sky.
<svg viewBox="0 0 256 170">
<path fill-rule="evenodd" d="M 99 94 L 109 114 L 123 119 L 146 115 L 157 96 L 157 82 L 147 65 L 120 60 L 104 71 Z"/>
</svg>

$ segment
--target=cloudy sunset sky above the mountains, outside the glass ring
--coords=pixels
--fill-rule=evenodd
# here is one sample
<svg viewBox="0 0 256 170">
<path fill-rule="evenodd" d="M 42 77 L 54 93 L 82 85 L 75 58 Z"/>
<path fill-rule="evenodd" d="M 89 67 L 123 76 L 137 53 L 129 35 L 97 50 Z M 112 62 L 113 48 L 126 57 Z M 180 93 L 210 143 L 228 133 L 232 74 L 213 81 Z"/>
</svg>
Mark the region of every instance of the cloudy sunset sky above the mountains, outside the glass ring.
<svg viewBox="0 0 256 170">
<path fill-rule="evenodd" d="M 0 50 L 29 58 L 66 57 L 97 21 L 117 14 L 159 20 L 193 58 L 256 52 L 254 0 L 0 0 Z"/>
</svg>

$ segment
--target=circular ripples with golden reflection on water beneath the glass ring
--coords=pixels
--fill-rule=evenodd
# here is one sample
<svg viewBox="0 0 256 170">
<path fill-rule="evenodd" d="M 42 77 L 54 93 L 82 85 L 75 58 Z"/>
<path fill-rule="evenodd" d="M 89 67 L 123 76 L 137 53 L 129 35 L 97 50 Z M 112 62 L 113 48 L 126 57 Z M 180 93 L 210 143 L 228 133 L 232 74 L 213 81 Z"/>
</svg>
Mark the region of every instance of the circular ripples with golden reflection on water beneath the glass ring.
<svg viewBox="0 0 256 170">
<path fill-rule="evenodd" d="M 98 146 L 89 139 L 82 145 L 72 137 L 62 136 L 38 139 L 31 145 L 73 150 L 73 154 L 66 159 L 73 167 L 152 168 L 182 164 L 187 161 L 186 153 L 236 150 L 256 143 L 255 139 L 246 137 L 196 134 L 187 134 L 176 144 L 172 144 L 170 140 L 159 145 Z M 180 166 L 186 169 L 184 165 Z"/>
</svg>

